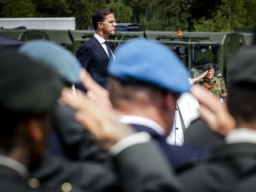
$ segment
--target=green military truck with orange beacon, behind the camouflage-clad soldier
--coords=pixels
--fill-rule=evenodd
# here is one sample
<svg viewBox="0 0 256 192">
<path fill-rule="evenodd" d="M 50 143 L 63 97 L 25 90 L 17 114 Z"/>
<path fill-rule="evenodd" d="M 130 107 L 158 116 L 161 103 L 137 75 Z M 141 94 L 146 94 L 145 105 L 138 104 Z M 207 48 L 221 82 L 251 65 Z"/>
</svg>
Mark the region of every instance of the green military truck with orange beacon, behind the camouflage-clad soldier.
<svg viewBox="0 0 256 192">
<path fill-rule="evenodd" d="M 237 32 L 146 31 L 149 38 L 166 44 L 181 58 L 191 77 L 203 73 L 208 62 L 215 65 L 215 76 L 229 83 L 228 63 L 236 52 L 247 46 Z"/>
</svg>

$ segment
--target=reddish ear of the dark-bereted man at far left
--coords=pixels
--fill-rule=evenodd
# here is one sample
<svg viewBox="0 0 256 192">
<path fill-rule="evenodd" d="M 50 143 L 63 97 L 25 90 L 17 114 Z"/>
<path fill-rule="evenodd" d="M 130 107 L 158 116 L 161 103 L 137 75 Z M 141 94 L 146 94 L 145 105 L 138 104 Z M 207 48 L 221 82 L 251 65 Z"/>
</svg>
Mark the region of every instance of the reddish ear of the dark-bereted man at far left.
<svg viewBox="0 0 256 192">
<path fill-rule="evenodd" d="M 43 132 L 40 128 L 40 125 L 36 119 L 30 119 L 27 122 L 28 125 L 28 134 L 33 138 L 34 141 L 43 140 Z"/>
</svg>

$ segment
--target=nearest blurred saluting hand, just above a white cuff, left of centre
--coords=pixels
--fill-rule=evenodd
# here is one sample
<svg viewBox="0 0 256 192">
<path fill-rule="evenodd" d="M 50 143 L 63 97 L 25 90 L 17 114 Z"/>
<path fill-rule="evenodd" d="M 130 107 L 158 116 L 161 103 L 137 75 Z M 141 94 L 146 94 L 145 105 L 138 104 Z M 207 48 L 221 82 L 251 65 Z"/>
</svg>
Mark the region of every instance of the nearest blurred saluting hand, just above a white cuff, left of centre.
<svg viewBox="0 0 256 192">
<path fill-rule="evenodd" d="M 134 133 L 129 125 L 119 122 L 119 114 L 111 107 L 90 98 L 82 91 L 74 95 L 70 89 L 62 91 L 62 101 L 77 110 L 75 119 L 95 136 L 100 147 L 109 149 L 122 138 Z"/>
</svg>

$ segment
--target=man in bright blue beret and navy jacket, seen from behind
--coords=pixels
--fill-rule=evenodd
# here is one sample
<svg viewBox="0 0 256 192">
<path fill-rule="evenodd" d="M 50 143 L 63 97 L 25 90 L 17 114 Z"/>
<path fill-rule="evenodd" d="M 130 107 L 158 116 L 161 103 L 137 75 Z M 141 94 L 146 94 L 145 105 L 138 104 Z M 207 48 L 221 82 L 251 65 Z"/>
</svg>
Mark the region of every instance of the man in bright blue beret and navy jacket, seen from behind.
<svg viewBox="0 0 256 192">
<path fill-rule="evenodd" d="M 132 41 L 119 48 L 108 67 L 109 98 L 121 122 L 150 133 L 172 165 L 203 157 L 207 149 L 174 146 L 166 141 L 176 101 L 190 90 L 189 73 L 174 52 L 160 43 Z"/>
</svg>

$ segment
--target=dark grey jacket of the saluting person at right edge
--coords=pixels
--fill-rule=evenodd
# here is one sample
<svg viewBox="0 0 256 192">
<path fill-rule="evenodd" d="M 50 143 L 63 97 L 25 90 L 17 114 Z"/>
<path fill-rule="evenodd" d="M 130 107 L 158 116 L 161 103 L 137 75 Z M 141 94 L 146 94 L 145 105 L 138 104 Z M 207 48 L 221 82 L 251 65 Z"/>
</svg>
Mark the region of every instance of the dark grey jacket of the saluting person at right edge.
<svg viewBox="0 0 256 192">
<path fill-rule="evenodd" d="M 179 173 L 185 191 L 255 191 L 256 144 L 225 144 Z"/>
</svg>

